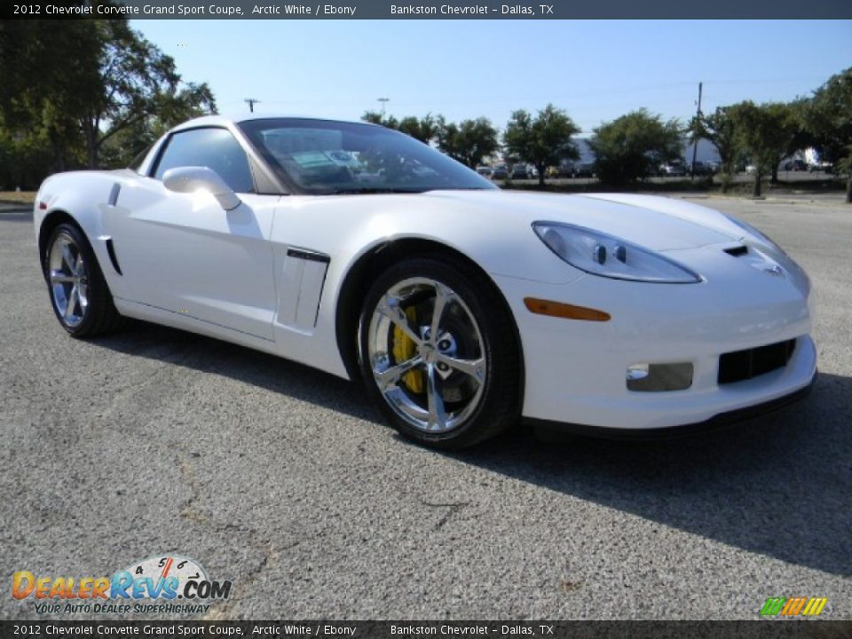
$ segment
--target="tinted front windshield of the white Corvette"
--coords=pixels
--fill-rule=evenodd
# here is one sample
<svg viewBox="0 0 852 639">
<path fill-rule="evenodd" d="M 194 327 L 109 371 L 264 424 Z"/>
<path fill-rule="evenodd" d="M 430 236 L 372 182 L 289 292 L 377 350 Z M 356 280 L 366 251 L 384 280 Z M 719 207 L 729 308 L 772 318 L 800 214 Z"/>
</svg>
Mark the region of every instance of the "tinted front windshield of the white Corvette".
<svg viewBox="0 0 852 639">
<path fill-rule="evenodd" d="M 276 118 L 241 122 L 240 128 L 298 193 L 496 188 L 430 146 L 373 124 Z"/>
</svg>

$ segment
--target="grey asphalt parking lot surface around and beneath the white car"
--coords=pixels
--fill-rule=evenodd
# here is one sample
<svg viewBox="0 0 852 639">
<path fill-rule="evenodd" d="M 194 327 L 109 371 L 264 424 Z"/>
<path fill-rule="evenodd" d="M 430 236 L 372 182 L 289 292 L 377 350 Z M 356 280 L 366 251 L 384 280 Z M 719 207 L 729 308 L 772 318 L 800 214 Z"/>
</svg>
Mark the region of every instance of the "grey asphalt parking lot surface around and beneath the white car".
<svg viewBox="0 0 852 639">
<path fill-rule="evenodd" d="M 757 619 L 768 596 L 852 618 L 852 207 L 696 201 L 809 272 L 811 397 L 697 438 L 517 429 L 464 454 L 411 446 L 358 386 L 239 346 L 145 324 L 67 337 L 31 215 L 0 211 L 0 619 L 38 618 L 13 572 L 172 552 L 233 581 L 212 619 Z"/>
</svg>

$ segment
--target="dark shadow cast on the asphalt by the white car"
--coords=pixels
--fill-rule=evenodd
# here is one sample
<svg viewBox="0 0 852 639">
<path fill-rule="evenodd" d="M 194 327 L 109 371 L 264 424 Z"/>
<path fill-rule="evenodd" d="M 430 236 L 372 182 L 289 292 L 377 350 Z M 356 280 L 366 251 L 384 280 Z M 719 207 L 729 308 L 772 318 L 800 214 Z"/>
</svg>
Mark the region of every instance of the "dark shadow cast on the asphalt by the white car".
<svg viewBox="0 0 852 639">
<path fill-rule="evenodd" d="M 226 375 L 376 424 L 359 384 L 231 343 L 133 321 L 99 346 Z M 459 463 L 619 509 L 749 552 L 852 574 L 852 378 L 759 420 L 674 440 L 625 442 L 519 427 Z"/>
</svg>

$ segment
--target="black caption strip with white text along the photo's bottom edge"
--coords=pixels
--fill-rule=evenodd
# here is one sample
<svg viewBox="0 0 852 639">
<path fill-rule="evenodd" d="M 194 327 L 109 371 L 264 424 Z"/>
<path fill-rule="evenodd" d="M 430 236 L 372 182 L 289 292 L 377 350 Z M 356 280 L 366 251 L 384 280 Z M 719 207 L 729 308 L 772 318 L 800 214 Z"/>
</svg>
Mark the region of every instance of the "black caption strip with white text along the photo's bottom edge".
<svg viewBox="0 0 852 639">
<path fill-rule="evenodd" d="M 0 621 L 0 636 L 841 639 L 852 621 Z"/>
</svg>

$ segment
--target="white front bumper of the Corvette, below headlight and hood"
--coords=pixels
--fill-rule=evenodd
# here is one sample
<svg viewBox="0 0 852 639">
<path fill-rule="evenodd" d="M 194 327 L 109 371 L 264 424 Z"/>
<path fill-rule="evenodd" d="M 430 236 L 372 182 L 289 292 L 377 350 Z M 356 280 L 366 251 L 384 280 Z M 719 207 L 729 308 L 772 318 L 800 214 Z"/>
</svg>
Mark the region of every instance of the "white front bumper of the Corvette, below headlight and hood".
<svg viewBox="0 0 852 639">
<path fill-rule="evenodd" d="M 808 291 L 791 278 L 740 269 L 717 270 L 699 284 L 679 285 L 591 275 L 565 285 L 494 279 L 507 296 L 521 336 L 522 414 L 527 421 L 595 430 L 657 430 L 721 421 L 720 415 L 771 407 L 795 396 L 809 388 L 817 372 Z M 533 314 L 525 308 L 525 296 L 598 309 L 611 319 Z M 718 383 L 722 353 L 793 339 L 795 348 L 785 367 L 742 382 Z M 646 362 L 689 362 L 690 387 L 627 390 L 627 367 Z"/>
</svg>

